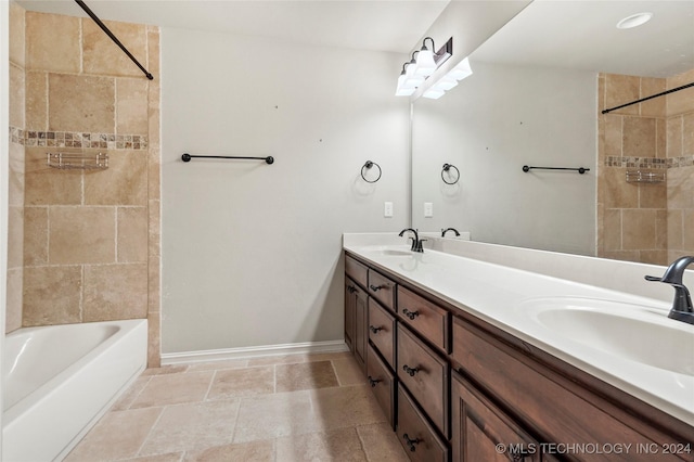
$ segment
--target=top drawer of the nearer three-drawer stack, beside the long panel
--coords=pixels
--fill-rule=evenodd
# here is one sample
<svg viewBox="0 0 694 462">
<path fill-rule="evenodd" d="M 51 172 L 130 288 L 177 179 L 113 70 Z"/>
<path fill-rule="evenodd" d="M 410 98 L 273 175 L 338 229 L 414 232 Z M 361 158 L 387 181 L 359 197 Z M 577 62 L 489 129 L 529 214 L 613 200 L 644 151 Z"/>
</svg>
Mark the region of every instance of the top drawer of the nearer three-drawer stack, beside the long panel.
<svg viewBox="0 0 694 462">
<path fill-rule="evenodd" d="M 447 310 L 399 286 L 398 317 L 427 341 L 449 351 Z"/>
</svg>

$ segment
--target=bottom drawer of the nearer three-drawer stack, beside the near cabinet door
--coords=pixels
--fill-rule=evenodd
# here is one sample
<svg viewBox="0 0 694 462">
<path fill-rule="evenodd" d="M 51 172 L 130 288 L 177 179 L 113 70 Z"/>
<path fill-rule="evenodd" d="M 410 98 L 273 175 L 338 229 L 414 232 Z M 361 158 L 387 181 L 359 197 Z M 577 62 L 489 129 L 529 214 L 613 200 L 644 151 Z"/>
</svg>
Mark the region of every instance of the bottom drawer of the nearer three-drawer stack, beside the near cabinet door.
<svg viewBox="0 0 694 462">
<path fill-rule="evenodd" d="M 400 444 L 413 461 L 447 462 L 448 445 L 420 414 L 412 398 L 398 386 L 398 425 Z"/>
</svg>

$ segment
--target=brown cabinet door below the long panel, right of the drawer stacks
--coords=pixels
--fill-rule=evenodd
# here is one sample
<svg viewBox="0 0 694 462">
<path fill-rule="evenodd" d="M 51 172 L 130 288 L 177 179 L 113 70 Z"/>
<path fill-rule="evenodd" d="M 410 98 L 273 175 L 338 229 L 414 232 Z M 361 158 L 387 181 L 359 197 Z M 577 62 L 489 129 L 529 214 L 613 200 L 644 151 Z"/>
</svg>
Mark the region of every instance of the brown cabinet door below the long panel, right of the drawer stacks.
<svg viewBox="0 0 694 462">
<path fill-rule="evenodd" d="M 540 461 L 540 445 L 455 372 L 451 405 L 453 461 Z"/>
</svg>

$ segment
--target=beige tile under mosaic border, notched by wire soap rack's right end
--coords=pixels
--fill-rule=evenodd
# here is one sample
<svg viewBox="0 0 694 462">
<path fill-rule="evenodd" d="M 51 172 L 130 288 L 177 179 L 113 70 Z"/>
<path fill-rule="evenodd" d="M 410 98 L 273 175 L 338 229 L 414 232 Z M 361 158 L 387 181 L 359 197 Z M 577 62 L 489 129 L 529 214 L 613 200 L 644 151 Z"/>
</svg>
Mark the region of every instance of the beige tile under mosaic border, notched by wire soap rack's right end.
<svg viewBox="0 0 694 462">
<path fill-rule="evenodd" d="M 85 204 L 146 206 L 146 153 L 108 151 L 108 169 L 85 175 Z"/>
</svg>

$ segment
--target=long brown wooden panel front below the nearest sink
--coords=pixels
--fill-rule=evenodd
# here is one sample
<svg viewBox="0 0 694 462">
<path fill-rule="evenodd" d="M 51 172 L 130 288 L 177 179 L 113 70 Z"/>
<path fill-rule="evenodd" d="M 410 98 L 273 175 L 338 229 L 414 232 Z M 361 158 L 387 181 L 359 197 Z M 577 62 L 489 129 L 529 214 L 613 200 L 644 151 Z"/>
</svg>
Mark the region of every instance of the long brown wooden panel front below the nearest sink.
<svg viewBox="0 0 694 462">
<path fill-rule="evenodd" d="M 618 405 L 584 390 L 484 331 L 453 319 L 452 359 L 505 409 L 530 423 L 549 441 L 570 444 L 663 445 L 678 442 Z M 648 435 L 648 436 L 644 436 Z M 681 441 L 679 441 L 681 442 Z M 646 451 L 647 452 L 647 451 Z M 612 454 L 615 461 L 653 460 L 653 454 Z M 659 454 L 658 461 L 679 460 Z"/>
</svg>

